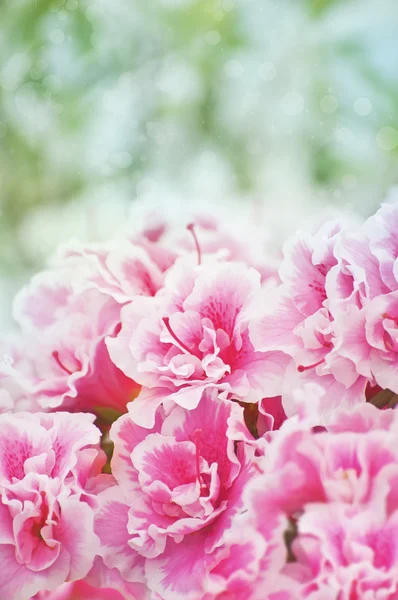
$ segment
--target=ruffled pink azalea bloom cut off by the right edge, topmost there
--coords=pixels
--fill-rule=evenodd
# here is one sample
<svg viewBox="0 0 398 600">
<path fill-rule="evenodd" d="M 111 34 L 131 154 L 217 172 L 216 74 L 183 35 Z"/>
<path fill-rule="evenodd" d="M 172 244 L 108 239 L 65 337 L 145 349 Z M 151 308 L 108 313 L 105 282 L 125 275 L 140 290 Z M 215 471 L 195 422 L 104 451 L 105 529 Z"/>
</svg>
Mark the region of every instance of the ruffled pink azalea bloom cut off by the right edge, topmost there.
<svg viewBox="0 0 398 600">
<path fill-rule="evenodd" d="M 383 205 L 355 236 L 343 238 L 329 280 L 337 355 L 372 386 L 392 391 L 398 391 L 397 218 L 398 204 Z M 343 279 L 347 291 L 340 285 Z"/>
</svg>

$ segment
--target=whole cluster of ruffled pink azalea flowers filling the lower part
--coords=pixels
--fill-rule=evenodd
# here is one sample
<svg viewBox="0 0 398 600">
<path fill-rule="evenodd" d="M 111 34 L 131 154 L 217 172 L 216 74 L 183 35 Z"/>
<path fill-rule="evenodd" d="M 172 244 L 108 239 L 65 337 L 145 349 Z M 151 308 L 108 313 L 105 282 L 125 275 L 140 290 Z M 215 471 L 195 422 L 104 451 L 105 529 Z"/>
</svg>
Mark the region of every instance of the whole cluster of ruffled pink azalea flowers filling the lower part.
<svg viewBox="0 0 398 600">
<path fill-rule="evenodd" d="M 60 248 L 1 339 L 0 598 L 398 600 L 397 231 Z"/>
</svg>

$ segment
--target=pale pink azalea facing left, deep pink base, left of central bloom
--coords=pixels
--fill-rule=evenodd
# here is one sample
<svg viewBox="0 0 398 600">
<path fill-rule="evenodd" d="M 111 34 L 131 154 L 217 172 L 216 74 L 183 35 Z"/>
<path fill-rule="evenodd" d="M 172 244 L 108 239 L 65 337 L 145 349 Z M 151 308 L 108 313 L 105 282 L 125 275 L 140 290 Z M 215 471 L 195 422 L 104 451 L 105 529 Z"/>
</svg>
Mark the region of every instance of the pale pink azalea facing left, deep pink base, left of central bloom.
<svg viewBox="0 0 398 600">
<path fill-rule="evenodd" d="M 66 275 L 46 272 L 17 296 L 14 316 L 23 328 L 20 366 L 26 396 L 41 409 L 62 406 L 124 412 L 138 386 L 111 361 L 105 337 L 119 327 L 120 308 L 97 290 L 75 294 Z"/>
</svg>

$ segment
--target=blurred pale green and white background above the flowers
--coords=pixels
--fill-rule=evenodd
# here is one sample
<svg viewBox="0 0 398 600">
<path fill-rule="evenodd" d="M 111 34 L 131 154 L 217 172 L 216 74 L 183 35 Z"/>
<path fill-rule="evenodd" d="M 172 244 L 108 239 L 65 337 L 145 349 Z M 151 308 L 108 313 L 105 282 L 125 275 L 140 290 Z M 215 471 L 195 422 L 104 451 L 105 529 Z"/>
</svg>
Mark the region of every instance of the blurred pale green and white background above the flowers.
<svg viewBox="0 0 398 600">
<path fill-rule="evenodd" d="M 0 10 L 3 298 L 132 201 L 255 199 L 282 235 L 324 205 L 369 214 L 397 181 L 396 0 Z"/>
</svg>

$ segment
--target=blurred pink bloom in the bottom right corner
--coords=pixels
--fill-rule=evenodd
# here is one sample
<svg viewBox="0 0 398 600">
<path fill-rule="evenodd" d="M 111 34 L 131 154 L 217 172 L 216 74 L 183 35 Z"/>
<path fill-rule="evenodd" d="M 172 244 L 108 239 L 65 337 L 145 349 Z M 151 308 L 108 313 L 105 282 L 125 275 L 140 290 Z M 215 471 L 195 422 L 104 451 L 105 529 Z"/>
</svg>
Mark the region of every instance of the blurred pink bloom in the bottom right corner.
<svg viewBox="0 0 398 600">
<path fill-rule="evenodd" d="M 311 600 L 396 600 L 397 540 L 398 511 L 387 516 L 372 506 L 311 505 L 292 544 L 297 562 L 284 573 Z"/>
</svg>

